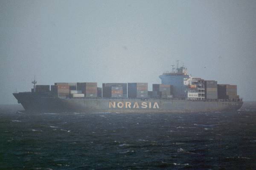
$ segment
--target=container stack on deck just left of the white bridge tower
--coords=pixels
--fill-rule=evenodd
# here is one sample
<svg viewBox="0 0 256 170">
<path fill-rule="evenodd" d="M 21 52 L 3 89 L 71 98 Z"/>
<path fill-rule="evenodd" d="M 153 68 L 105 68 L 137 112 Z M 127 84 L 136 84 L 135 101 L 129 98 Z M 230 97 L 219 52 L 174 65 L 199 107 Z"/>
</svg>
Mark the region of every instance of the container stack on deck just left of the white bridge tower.
<svg viewBox="0 0 256 170">
<path fill-rule="evenodd" d="M 153 97 L 154 98 L 172 98 L 173 86 L 172 85 L 162 85 L 153 84 Z"/>
</svg>

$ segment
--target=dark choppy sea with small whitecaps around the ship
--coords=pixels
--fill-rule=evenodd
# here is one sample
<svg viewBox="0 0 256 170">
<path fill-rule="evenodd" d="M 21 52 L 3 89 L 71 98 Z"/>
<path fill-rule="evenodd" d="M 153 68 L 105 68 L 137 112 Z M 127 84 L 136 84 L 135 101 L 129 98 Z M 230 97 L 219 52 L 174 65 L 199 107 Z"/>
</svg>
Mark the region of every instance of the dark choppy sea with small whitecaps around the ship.
<svg viewBox="0 0 256 170">
<path fill-rule="evenodd" d="M 256 102 L 207 113 L 0 106 L 0 170 L 256 170 Z"/>
</svg>

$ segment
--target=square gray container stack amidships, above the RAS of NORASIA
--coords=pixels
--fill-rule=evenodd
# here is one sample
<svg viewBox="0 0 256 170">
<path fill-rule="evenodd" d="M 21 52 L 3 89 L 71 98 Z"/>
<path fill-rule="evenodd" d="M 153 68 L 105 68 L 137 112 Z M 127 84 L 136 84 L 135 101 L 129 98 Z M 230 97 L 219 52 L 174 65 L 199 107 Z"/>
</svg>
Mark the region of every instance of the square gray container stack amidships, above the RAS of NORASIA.
<svg viewBox="0 0 256 170">
<path fill-rule="evenodd" d="M 148 83 L 128 83 L 128 98 L 147 98 Z"/>
</svg>

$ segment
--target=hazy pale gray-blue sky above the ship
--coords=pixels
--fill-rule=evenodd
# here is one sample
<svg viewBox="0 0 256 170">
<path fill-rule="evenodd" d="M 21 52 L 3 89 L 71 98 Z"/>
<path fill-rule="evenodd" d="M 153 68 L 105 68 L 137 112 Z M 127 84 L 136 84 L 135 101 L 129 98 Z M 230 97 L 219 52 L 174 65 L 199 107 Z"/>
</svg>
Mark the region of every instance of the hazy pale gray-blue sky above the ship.
<svg viewBox="0 0 256 170">
<path fill-rule="evenodd" d="M 54 82 L 189 74 L 256 101 L 255 0 L 0 0 L 0 104 Z"/>
</svg>

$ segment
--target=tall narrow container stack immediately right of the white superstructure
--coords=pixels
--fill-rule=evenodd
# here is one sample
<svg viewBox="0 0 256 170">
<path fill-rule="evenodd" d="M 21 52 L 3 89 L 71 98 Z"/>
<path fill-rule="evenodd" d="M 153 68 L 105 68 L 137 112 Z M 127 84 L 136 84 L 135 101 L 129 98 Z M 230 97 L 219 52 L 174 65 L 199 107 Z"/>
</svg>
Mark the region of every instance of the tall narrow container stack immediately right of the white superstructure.
<svg viewBox="0 0 256 170">
<path fill-rule="evenodd" d="M 205 80 L 204 88 L 205 88 L 206 99 L 218 99 L 217 81 Z"/>
</svg>

